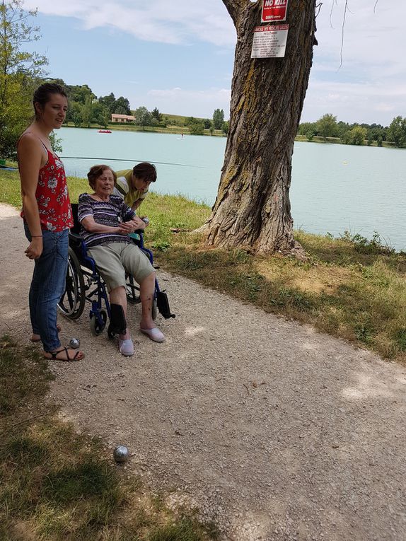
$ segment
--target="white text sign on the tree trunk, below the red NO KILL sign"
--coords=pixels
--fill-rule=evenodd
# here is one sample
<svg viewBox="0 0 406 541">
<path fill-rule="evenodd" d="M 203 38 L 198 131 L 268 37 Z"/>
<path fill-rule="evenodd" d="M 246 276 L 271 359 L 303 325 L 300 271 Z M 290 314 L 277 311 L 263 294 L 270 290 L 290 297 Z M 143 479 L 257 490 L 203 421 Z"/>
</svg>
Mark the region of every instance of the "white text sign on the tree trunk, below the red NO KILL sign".
<svg viewBox="0 0 406 541">
<path fill-rule="evenodd" d="M 285 56 L 289 25 L 256 26 L 251 58 L 282 58 Z"/>
</svg>

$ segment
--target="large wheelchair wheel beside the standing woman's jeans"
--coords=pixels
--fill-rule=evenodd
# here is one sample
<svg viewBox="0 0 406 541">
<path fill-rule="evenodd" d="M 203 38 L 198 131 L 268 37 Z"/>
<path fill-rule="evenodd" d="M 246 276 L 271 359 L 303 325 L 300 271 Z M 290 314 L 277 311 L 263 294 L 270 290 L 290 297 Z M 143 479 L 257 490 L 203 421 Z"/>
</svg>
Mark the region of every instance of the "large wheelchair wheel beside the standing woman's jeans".
<svg viewBox="0 0 406 541">
<path fill-rule="evenodd" d="M 85 308 L 85 281 L 81 264 L 74 250 L 69 246 L 68 269 L 66 271 L 65 292 L 59 300 L 58 308 L 66 318 L 80 318 Z"/>
</svg>

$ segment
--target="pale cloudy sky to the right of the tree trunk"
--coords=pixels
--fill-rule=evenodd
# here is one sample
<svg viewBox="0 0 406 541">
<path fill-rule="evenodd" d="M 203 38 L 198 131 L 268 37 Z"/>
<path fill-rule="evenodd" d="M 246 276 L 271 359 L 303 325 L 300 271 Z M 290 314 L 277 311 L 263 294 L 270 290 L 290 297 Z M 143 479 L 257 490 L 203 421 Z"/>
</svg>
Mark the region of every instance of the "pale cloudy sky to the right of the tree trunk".
<svg viewBox="0 0 406 541">
<path fill-rule="evenodd" d="M 344 0 L 323 4 L 303 121 L 317 120 L 329 112 L 348 122 L 389 124 L 393 116 L 405 115 L 406 34 L 402 21 L 406 4 L 380 0 L 374 12 L 375 4 L 376 0 L 349 0 L 343 46 Z"/>
</svg>

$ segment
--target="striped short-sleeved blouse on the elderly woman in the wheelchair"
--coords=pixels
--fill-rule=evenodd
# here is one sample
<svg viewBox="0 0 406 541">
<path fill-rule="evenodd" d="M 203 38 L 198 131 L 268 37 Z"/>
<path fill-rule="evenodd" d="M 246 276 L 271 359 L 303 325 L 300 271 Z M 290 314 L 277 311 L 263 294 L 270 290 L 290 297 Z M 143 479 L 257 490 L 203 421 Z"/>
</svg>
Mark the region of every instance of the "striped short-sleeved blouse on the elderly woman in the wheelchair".
<svg viewBox="0 0 406 541">
<path fill-rule="evenodd" d="M 79 195 L 78 220 L 93 216 L 95 222 L 103 226 L 118 227 L 121 222 L 129 221 L 135 212 L 124 203 L 121 197 L 110 195 L 109 201 L 96 201 L 89 194 Z M 120 233 L 92 233 L 81 226 L 81 236 L 88 248 L 108 243 L 132 243 L 128 235 Z"/>
</svg>

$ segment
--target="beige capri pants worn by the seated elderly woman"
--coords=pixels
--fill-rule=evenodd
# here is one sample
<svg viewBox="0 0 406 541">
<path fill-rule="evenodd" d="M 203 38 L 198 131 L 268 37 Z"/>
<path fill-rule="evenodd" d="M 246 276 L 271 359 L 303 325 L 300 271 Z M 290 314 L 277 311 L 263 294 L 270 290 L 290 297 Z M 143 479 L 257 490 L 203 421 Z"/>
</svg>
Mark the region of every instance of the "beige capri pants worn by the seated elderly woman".
<svg viewBox="0 0 406 541">
<path fill-rule="evenodd" d="M 132 274 L 138 284 L 155 272 L 148 256 L 133 243 L 101 244 L 88 248 L 88 254 L 95 260 L 109 293 L 125 286 L 126 272 Z"/>
</svg>

